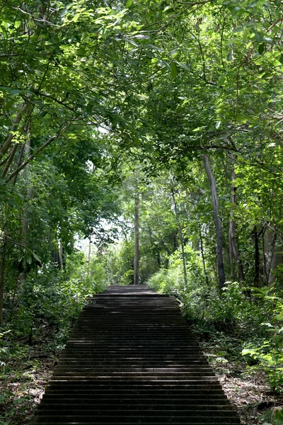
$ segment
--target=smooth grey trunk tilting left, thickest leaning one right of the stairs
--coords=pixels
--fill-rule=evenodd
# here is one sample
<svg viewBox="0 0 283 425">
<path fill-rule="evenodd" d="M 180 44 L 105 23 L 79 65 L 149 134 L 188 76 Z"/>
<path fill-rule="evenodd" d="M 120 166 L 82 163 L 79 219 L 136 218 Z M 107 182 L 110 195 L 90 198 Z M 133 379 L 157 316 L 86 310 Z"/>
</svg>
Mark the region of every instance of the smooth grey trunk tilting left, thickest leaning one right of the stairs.
<svg viewBox="0 0 283 425">
<path fill-rule="evenodd" d="M 224 273 L 224 262 L 223 262 L 223 230 L 222 230 L 221 220 L 219 217 L 219 200 L 217 196 L 214 175 L 212 174 L 212 169 L 210 168 L 210 164 L 209 164 L 209 159 L 207 155 L 202 155 L 202 159 L 204 160 L 204 168 L 205 168 L 205 171 L 207 172 L 207 178 L 209 180 L 210 191 L 212 193 L 212 205 L 213 205 L 214 222 L 215 222 L 215 229 L 216 229 L 218 283 L 219 283 L 219 290 L 221 291 L 225 283 L 225 273 Z"/>
</svg>

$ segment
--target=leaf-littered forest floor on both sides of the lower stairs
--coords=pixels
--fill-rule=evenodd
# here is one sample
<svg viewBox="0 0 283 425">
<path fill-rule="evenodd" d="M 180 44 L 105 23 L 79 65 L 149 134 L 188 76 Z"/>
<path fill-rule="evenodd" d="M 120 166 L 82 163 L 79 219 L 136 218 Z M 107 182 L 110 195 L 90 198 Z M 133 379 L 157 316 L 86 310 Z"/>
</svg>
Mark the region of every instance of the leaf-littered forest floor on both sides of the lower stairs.
<svg viewBox="0 0 283 425">
<path fill-rule="evenodd" d="M 32 346 L 18 343 L 18 356 L 11 359 L 0 375 L 0 425 L 28 425 L 40 402 L 59 349 L 54 349 L 54 331 L 49 329 Z M 270 392 L 264 373 L 247 372 L 240 361 L 226 361 L 216 354 L 217 341 L 200 339 L 204 353 L 212 364 L 242 424 L 272 424 L 272 412 L 283 405 L 283 396 Z"/>
</svg>

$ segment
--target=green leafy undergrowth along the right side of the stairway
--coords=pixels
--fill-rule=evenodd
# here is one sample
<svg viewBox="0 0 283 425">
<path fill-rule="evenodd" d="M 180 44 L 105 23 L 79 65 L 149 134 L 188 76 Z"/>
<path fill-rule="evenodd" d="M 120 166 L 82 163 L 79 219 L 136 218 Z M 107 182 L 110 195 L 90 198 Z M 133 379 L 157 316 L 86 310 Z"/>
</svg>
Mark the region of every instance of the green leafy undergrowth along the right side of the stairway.
<svg viewBox="0 0 283 425">
<path fill-rule="evenodd" d="M 264 288 L 227 282 L 219 296 L 205 278 L 197 253 L 189 249 L 187 257 L 187 288 L 178 253 L 171 256 L 168 269 L 158 271 L 148 284 L 160 293 L 177 297 L 216 370 L 232 377 L 263 377 L 267 392 L 277 397 L 279 405 L 267 409 L 260 423 L 283 424 L 282 290 L 276 282 Z M 258 404 L 263 405 L 262 400 Z"/>
</svg>

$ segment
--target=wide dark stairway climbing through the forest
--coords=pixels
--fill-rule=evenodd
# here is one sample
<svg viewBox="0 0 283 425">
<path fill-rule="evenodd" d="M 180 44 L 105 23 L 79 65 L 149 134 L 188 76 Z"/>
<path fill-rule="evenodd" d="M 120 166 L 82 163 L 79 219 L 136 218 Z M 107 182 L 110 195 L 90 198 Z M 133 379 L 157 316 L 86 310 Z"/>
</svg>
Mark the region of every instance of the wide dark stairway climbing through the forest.
<svg viewBox="0 0 283 425">
<path fill-rule="evenodd" d="M 240 424 L 178 302 L 145 285 L 88 299 L 33 424 Z"/>
</svg>

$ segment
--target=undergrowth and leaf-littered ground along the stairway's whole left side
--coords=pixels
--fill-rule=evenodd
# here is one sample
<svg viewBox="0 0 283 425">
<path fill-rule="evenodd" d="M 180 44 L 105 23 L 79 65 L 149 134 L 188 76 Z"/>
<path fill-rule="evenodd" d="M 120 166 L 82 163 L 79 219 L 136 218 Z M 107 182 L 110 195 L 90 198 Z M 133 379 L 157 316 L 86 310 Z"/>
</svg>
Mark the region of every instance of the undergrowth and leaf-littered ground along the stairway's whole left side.
<svg viewBox="0 0 283 425">
<path fill-rule="evenodd" d="M 82 253 L 66 269 L 30 273 L 21 291 L 6 295 L 0 332 L 0 425 L 27 424 L 88 295 L 105 288 L 97 261 Z"/>
</svg>

